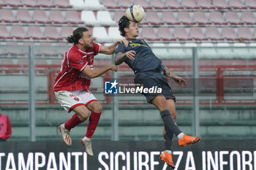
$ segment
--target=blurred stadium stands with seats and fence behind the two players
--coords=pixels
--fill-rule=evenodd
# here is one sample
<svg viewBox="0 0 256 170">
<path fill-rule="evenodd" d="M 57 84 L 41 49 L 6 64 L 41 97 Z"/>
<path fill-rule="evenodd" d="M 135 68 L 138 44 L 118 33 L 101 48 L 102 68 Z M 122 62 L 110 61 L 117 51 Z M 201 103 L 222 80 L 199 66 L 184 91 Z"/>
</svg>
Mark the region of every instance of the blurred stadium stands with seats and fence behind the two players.
<svg viewBox="0 0 256 170">
<path fill-rule="evenodd" d="M 187 89 L 173 85 L 181 129 L 203 139 L 256 139 L 255 0 L 0 0 L 0 105 L 12 123 L 9 141 L 61 140 L 58 126 L 72 114 L 54 98 L 53 82 L 69 48 L 65 38 L 86 26 L 94 42 L 115 42 L 131 4 L 146 10 L 140 38 L 189 80 Z M 97 55 L 94 66 L 112 62 Z M 133 73 L 121 65 L 92 81 L 103 105 L 94 140 L 162 140 L 159 112 L 143 96 L 104 95 L 113 76 L 132 80 Z M 81 139 L 85 125 L 72 139 Z"/>
</svg>

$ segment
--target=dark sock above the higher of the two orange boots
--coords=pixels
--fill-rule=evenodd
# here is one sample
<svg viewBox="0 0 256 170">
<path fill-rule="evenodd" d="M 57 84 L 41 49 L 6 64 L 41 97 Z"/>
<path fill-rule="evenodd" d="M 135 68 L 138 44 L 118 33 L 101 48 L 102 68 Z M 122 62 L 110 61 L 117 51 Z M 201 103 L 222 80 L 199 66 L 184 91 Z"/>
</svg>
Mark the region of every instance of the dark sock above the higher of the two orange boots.
<svg viewBox="0 0 256 170">
<path fill-rule="evenodd" d="M 173 133 L 178 136 L 178 134 L 181 133 L 181 129 L 178 128 L 178 125 L 173 120 L 173 117 L 170 115 L 170 111 L 168 109 L 165 109 L 160 112 L 160 115 L 162 117 L 162 120 L 164 121 L 167 130 L 173 131 Z"/>
</svg>

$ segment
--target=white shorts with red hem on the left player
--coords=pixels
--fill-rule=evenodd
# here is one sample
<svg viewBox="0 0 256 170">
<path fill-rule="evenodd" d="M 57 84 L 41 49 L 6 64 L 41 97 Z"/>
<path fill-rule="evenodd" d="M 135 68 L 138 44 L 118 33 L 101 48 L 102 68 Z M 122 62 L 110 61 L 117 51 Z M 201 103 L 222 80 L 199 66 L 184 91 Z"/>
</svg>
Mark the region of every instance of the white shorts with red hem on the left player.
<svg viewBox="0 0 256 170">
<path fill-rule="evenodd" d="M 74 107 L 86 105 L 92 101 L 98 101 L 90 90 L 60 90 L 55 91 L 56 99 L 67 112 L 71 112 Z"/>
</svg>

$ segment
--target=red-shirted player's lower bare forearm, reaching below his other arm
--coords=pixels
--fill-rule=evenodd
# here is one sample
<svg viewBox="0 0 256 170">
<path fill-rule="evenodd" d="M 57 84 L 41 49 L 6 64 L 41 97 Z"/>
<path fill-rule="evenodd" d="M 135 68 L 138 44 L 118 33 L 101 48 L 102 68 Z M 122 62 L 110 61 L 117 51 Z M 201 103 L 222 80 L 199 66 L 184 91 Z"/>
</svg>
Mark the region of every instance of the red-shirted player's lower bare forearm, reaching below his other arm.
<svg viewBox="0 0 256 170">
<path fill-rule="evenodd" d="M 86 68 L 84 68 L 82 72 L 83 72 L 83 74 L 88 76 L 90 79 L 93 79 L 95 77 L 101 76 L 105 72 L 108 72 L 108 70 L 113 70 L 116 72 L 117 66 L 115 66 L 115 65 L 103 66 L 100 69 L 91 69 L 89 66 L 86 66 Z"/>
</svg>

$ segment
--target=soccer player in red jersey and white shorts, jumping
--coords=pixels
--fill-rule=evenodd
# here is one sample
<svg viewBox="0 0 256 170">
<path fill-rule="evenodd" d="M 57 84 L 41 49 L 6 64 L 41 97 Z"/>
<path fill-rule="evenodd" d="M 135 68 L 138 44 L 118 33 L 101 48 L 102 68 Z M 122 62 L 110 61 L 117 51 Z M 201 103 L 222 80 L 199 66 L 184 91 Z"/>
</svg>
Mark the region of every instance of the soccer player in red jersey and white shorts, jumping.
<svg viewBox="0 0 256 170">
<path fill-rule="evenodd" d="M 113 54 L 116 46 L 122 42 L 128 45 L 126 39 L 120 39 L 108 47 L 100 46 L 93 40 L 94 37 L 84 27 L 75 29 L 73 34 L 67 37 L 67 42 L 73 43 L 73 45 L 67 50 L 61 61 L 61 69 L 54 84 L 54 93 L 61 106 L 67 112 L 75 112 L 67 120 L 67 123 L 59 125 L 62 139 L 67 146 L 71 146 L 70 130 L 89 117 L 86 136 L 83 137 L 81 143 L 86 147 L 86 152 L 90 156 L 94 155 L 91 149 L 91 136 L 97 128 L 102 113 L 101 104 L 89 90 L 91 79 L 99 77 L 109 70 L 117 71 L 115 65 L 94 69 L 94 55 L 98 53 Z"/>
</svg>

